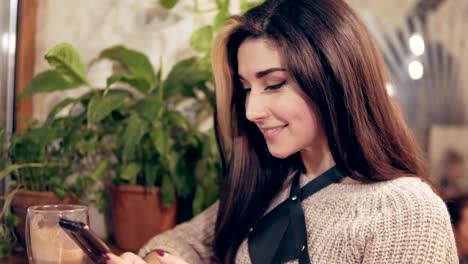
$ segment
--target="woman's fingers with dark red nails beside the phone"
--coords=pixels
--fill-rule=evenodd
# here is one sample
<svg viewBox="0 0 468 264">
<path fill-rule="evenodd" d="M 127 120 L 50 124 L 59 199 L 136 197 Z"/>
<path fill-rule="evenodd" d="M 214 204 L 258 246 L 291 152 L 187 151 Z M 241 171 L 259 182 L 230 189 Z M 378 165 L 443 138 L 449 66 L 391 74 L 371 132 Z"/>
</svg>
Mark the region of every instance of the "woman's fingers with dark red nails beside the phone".
<svg viewBox="0 0 468 264">
<path fill-rule="evenodd" d="M 123 253 L 120 257 L 114 254 L 107 254 L 107 256 L 108 260 L 106 263 L 108 264 L 187 264 L 187 262 L 181 258 L 168 254 L 160 249 L 148 254 L 144 260 L 130 252 Z"/>
</svg>

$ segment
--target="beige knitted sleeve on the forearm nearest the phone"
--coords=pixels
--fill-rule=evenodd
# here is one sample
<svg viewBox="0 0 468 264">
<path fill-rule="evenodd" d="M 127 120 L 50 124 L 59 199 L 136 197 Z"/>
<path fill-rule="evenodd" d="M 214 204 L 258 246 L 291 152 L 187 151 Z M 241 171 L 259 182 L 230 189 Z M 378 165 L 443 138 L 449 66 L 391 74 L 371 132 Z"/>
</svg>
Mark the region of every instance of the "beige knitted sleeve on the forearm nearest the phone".
<svg viewBox="0 0 468 264">
<path fill-rule="evenodd" d="M 211 262 L 217 212 L 218 202 L 192 220 L 153 237 L 138 255 L 144 257 L 154 249 L 162 249 L 190 264 Z"/>
</svg>

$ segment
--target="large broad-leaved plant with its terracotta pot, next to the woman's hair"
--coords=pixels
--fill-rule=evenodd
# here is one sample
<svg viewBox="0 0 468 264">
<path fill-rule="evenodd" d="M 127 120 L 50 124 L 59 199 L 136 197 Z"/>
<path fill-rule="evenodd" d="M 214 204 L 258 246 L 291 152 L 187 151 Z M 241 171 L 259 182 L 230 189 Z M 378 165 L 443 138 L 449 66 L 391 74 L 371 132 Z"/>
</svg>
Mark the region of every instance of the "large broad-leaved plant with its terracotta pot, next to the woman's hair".
<svg viewBox="0 0 468 264">
<path fill-rule="evenodd" d="M 195 209 L 216 199 L 217 166 L 213 162 L 217 159 L 209 156 L 216 155 L 216 150 L 208 144 L 212 131 L 199 130 L 200 119 L 211 113 L 213 92 L 205 86 L 211 75 L 202 59 L 190 58 L 174 65 L 163 80 L 161 68 L 152 74 L 144 54 L 121 46 L 104 50 L 99 58 L 121 66 L 109 77 L 106 89 L 111 80 L 120 79 L 143 95 L 120 111 L 123 119 L 115 134 L 117 163 L 111 186 L 117 245 L 136 251 L 151 236 L 175 225 L 177 198 L 197 190 L 206 193 L 202 189 L 211 187 L 215 194 L 196 196 Z M 140 61 L 139 68 L 130 61 Z M 138 78 L 146 82 L 135 82 Z M 193 100 L 192 118 L 177 109 L 187 99 Z"/>
</svg>

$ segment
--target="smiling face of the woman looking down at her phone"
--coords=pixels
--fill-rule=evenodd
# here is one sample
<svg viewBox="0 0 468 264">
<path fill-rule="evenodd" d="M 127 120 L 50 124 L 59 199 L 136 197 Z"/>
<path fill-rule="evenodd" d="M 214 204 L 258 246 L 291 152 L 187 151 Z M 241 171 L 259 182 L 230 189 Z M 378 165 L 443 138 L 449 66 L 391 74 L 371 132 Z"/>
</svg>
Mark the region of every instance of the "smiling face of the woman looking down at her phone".
<svg viewBox="0 0 468 264">
<path fill-rule="evenodd" d="M 289 76 L 271 42 L 247 39 L 239 47 L 237 60 L 246 117 L 260 129 L 274 157 L 327 145 L 318 109 Z"/>
</svg>

